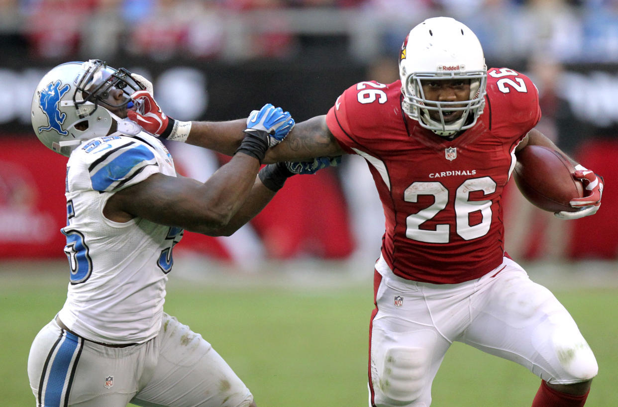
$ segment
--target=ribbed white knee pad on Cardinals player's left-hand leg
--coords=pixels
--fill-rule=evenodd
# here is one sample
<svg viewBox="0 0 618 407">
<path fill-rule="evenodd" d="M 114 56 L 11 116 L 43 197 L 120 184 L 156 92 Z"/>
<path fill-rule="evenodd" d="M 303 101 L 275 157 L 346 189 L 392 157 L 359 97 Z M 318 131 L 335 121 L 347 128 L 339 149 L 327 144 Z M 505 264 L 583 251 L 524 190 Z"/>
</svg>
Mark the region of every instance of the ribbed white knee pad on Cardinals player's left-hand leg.
<svg viewBox="0 0 618 407">
<path fill-rule="evenodd" d="M 379 390 L 392 405 L 408 405 L 423 393 L 428 353 L 421 348 L 390 348 L 379 372 Z"/>
</svg>

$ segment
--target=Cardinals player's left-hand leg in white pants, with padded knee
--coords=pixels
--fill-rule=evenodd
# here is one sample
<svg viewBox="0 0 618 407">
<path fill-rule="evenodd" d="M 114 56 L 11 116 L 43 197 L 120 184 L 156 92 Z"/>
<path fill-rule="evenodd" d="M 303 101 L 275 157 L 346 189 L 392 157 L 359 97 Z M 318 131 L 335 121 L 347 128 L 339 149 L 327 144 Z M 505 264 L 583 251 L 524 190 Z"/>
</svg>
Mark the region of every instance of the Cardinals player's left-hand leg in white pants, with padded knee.
<svg viewBox="0 0 618 407">
<path fill-rule="evenodd" d="M 370 332 L 370 397 L 375 406 L 425 407 L 451 342 L 431 321 L 425 299 L 382 279 Z"/>
</svg>

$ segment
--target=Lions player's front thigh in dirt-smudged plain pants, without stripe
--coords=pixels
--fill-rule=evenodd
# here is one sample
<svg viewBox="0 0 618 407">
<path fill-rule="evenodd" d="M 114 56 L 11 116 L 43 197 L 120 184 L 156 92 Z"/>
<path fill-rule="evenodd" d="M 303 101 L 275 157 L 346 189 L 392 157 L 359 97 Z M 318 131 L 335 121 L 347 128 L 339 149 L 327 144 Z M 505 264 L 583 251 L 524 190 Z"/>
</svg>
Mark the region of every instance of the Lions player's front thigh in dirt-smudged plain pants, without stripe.
<svg viewBox="0 0 618 407">
<path fill-rule="evenodd" d="M 155 371 L 133 404 L 247 407 L 253 401 L 248 388 L 210 343 L 176 318 L 164 314 L 156 343 Z"/>
</svg>

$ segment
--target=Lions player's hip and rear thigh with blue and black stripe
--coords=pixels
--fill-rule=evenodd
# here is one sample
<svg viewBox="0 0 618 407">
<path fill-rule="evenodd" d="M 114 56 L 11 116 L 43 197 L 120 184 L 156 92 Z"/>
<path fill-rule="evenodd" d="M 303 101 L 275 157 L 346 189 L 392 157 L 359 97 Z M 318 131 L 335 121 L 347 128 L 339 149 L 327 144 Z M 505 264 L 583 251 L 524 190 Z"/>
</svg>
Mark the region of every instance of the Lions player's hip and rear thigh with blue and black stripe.
<svg viewBox="0 0 618 407">
<path fill-rule="evenodd" d="M 43 327 L 30 348 L 28 377 L 45 407 L 125 407 L 137 392 L 140 349 L 105 348 L 62 330 Z"/>
</svg>

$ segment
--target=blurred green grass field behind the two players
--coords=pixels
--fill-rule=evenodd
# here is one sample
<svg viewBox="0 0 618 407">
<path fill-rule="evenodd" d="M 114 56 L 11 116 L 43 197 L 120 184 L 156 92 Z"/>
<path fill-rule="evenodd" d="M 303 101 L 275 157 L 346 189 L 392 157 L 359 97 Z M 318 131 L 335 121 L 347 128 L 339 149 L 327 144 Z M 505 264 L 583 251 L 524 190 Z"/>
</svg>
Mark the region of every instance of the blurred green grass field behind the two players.
<svg viewBox="0 0 618 407">
<path fill-rule="evenodd" d="M 30 270 L 36 267 L 41 272 Z M 36 332 L 64 303 L 67 280 L 61 268 L 0 266 L 2 406 L 33 405 L 28 350 Z M 310 283 L 316 277 L 324 277 L 323 287 Z M 172 275 L 166 311 L 213 344 L 260 407 L 366 406 L 370 276 L 352 279 L 347 286 L 326 277 L 302 271 L 266 279 L 236 274 L 202 281 Z M 616 285 L 546 285 L 575 317 L 599 362 L 586 406 L 618 406 Z M 523 367 L 456 343 L 434 381 L 432 406 L 530 406 L 538 385 Z"/>
</svg>

